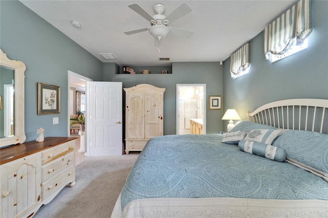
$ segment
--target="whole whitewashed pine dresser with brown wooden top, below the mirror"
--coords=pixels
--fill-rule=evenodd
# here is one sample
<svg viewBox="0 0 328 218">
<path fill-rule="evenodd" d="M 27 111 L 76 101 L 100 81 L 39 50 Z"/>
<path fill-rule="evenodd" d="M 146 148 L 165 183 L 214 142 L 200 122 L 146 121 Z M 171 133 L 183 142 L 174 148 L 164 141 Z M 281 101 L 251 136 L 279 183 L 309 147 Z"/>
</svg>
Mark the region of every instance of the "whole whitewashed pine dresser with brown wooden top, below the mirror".
<svg viewBox="0 0 328 218">
<path fill-rule="evenodd" d="M 68 183 L 75 185 L 75 141 L 47 137 L 1 149 L 1 217 L 32 217 Z"/>
</svg>

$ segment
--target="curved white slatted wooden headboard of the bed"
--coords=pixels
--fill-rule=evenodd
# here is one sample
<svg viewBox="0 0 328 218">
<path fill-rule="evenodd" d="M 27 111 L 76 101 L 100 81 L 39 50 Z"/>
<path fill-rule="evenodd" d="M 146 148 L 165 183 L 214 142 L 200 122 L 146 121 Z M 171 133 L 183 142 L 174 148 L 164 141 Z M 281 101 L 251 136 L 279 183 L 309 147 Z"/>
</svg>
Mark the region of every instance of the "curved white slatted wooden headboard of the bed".
<svg viewBox="0 0 328 218">
<path fill-rule="evenodd" d="M 247 120 L 283 129 L 328 134 L 328 99 L 287 99 L 265 104 L 247 113 Z"/>
</svg>

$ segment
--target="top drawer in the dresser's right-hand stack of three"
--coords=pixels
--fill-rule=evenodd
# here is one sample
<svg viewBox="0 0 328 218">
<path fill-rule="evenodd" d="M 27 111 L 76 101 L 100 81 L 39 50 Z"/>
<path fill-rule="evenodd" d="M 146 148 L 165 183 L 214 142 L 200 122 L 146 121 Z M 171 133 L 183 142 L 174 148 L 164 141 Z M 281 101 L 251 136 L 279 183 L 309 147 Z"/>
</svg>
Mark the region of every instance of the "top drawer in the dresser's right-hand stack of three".
<svg viewBox="0 0 328 218">
<path fill-rule="evenodd" d="M 74 151 L 75 140 L 49 148 L 42 152 L 42 165 L 56 160 L 69 152 Z"/>
</svg>

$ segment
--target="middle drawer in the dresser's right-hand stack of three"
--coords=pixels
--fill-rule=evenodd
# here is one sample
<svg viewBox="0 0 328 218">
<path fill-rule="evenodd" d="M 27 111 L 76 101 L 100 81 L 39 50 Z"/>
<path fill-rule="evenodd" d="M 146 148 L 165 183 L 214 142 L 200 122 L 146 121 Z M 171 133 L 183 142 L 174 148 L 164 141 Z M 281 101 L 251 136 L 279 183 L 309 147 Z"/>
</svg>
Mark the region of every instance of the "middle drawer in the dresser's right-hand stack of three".
<svg viewBox="0 0 328 218">
<path fill-rule="evenodd" d="M 49 164 L 42 167 L 42 178 L 43 181 L 46 181 L 50 177 L 54 176 L 56 173 L 67 168 L 68 166 L 74 164 L 74 152 L 58 158 L 55 161 L 50 162 Z"/>
</svg>

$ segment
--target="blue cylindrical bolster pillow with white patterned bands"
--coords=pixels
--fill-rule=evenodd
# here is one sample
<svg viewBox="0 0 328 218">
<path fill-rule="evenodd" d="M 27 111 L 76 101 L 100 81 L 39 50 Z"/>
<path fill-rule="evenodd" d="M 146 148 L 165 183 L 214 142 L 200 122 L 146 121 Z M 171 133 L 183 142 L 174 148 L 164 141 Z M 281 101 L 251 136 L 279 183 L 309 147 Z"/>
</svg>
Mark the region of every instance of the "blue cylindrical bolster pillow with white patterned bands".
<svg viewBox="0 0 328 218">
<path fill-rule="evenodd" d="M 283 162 L 287 157 L 284 149 L 260 142 L 241 140 L 238 146 L 241 151 L 279 162 Z"/>
</svg>

